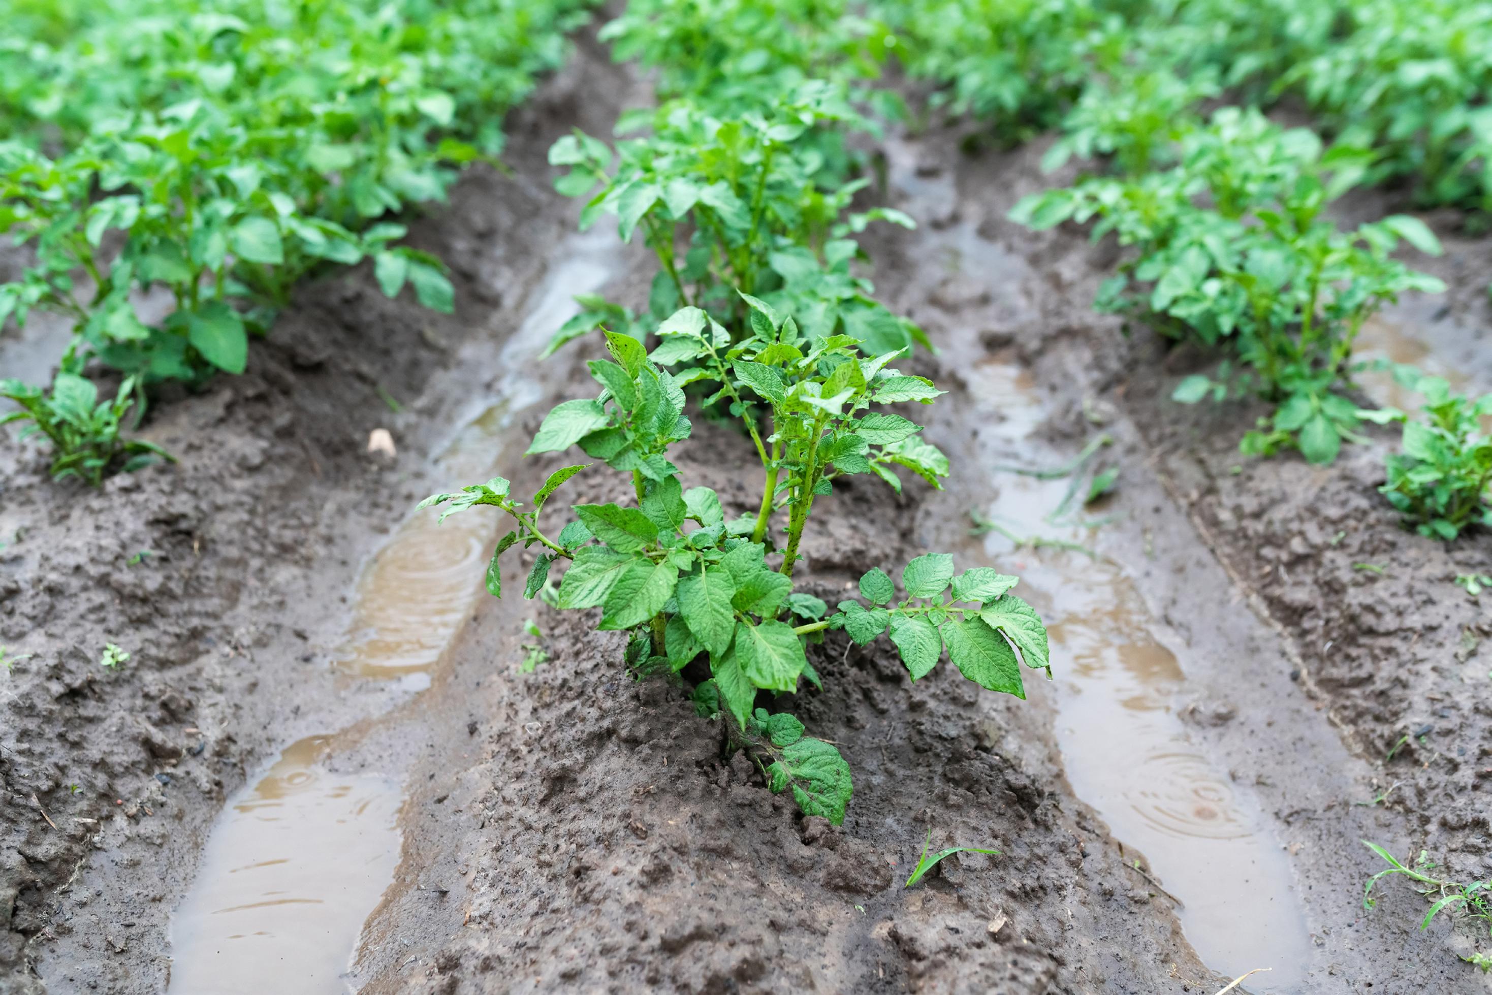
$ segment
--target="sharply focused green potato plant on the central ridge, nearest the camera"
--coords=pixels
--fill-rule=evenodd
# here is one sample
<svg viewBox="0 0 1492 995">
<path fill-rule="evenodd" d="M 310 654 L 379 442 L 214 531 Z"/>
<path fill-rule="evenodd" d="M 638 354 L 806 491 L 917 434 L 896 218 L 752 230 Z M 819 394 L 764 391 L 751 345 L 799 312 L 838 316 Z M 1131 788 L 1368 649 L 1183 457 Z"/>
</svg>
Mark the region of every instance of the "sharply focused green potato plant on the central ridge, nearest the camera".
<svg viewBox="0 0 1492 995">
<path fill-rule="evenodd" d="M 1015 577 L 974 568 L 955 577 L 952 556 L 932 553 L 903 570 L 907 598 L 894 603 L 891 577 L 873 570 L 861 580 L 871 606 L 846 601 L 836 613 L 794 591 L 794 568 L 813 503 L 846 474 L 876 474 L 900 488 L 892 467 L 937 485 L 947 459 L 918 439 L 921 428 L 891 412 L 900 401 L 931 403 L 927 379 L 888 368 L 898 352 L 861 355 L 847 336 L 812 339 L 792 318 L 743 294 L 750 337 L 730 333 L 698 307 L 685 307 L 658 330 L 649 354 L 642 342 L 606 331 L 610 360 L 591 361 L 601 386 L 595 398 L 564 401 L 545 416 L 528 452 L 577 446 L 631 480 L 634 501 L 576 504 L 558 534 L 540 528 L 540 512 L 557 488 L 594 464 L 555 471 L 525 507 L 497 477 L 460 492 L 436 494 L 421 507 L 445 504 L 442 519 L 495 506 L 515 528 L 492 553 L 486 586 L 501 594 L 500 556 L 512 546 L 539 546 L 525 597 L 540 592 L 551 567 L 568 561 L 555 606 L 600 609 L 597 628 L 630 631 L 627 665 L 639 676 L 679 674 L 698 658 L 709 679 L 694 689 L 701 715 L 725 716 L 731 749 L 762 765 L 774 792 L 792 789 L 800 809 L 839 823 L 852 795 L 839 750 L 803 735 L 789 715 L 758 709 L 758 692 L 794 694 L 800 680 L 821 686 L 804 640 L 844 628 L 859 644 L 889 633 L 912 679 L 937 664 L 944 643 L 959 670 L 992 691 L 1024 697 L 1019 661 L 1046 668 L 1046 631 L 1019 598 Z M 692 362 L 679 376 L 668 365 Z M 668 448 L 689 437 L 683 386 L 709 382 L 746 425 L 762 462 L 756 515 L 727 521 L 718 494 L 683 488 Z M 786 513 L 785 546 L 776 558 L 771 525 Z M 950 597 L 944 592 L 952 591 Z"/>
</svg>

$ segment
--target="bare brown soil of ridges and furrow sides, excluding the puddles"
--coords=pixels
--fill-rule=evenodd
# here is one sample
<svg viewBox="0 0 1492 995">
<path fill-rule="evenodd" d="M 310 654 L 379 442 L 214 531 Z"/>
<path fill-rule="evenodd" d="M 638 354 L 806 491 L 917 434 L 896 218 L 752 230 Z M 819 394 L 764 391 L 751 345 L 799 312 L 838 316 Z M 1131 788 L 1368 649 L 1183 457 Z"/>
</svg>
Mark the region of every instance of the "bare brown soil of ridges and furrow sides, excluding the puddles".
<svg viewBox="0 0 1492 995">
<path fill-rule="evenodd" d="M 367 992 L 1149 994 L 1229 980 L 1186 943 L 1168 895 L 1182 888 L 1135 867 L 1073 794 L 1055 697 L 1037 680 L 1025 703 L 976 694 L 947 665 L 912 685 L 886 647 L 833 634 L 813 649 L 825 691 L 782 703 L 853 768 L 849 817 L 833 828 L 725 759 L 682 688 L 627 677 L 618 635 L 537 601 L 483 601 L 421 694 L 334 673 L 360 564 L 415 500 L 466 483 L 439 479 L 430 456 L 491 400 L 509 373 L 498 346 L 576 251 L 574 204 L 549 189 L 545 149 L 571 124 L 603 131 L 636 92 L 585 46 L 512 122 L 512 175 L 474 172 L 415 225 L 457 269 L 454 318 L 385 301 L 366 271 L 339 274 L 303 288 L 248 374 L 155 409 L 149 434 L 179 467 L 91 494 L 51 483 L 13 446 L 0 453 L 0 643 L 31 653 L 0 674 L 0 992 L 161 991 L 169 916 L 225 797 L 286 743 L 337 729 L 340 762 L 397 771 L 407 791 L 403 862 L 354 973 Z M 1488 873 L 1492 698 L 1477 647 L 1492 630 L 1450 579 L 1485 571 L 1489 540 L 1447 549 L 1398 530 L 1373 491 L 1382 449 L 1329 470 L 1240 459 L 1253 412 L 1164 400 L 1203 358 L 1089 310 L 1110 254 L 1004 221 L 1050 182 L 1040 149 L 967 158 L 958 137 L 888 142 L 886 195 L 922 228 L 868 245 L 882 297 L 941 348 L 915 362 L 950 394 L 915 415 L 955 456 L 955 482 L 900 498 L 841 488 L 815 516 L 807 586 L 833 603 L 871 565 L 983 555 L 967 510 L 998 486 L 1000 453 L 980 439 L 989 398 L 974 370 L 992 355 L 1024 364 L 1053 451 L 1076 452 L 1094 419 L 1116 436 L 1116 521 L 1095 542 L 1186 647 L 1177 710 L 1289 850 L 1306 980 L 1234 991 L 1482 991 L 1452 956 L 1467 935 L 1420 934 L 1407 888 L 1361 910 L 1379 868 L 1356 840 Z M 640 303 L 645 266 L 618 251 L 612 295 Z M 1488 273 L 1446 266 L 1458 319 L 1489 327 L 1468 289 Z M 542 397 L 515 437 L 588 389 L 582 352 L 534 367 Z M 397 459 L 364 452 L 377 427 Z M 501 464 L 522 492 L 554 464 L 518 451 Z M 733 433 L 697 419 L 680 455 L 689 485 L 718 488 L 734 513 L 753 507 L 756 471 Z M 571 500 L 606 486 L 577 477 Z M 143 549 L 155 555 L 130 565 Z M 504 583 L 521 585 L 516 570 Z M 519 674 L 527 615 L 549 662 Z M 130 662 L 100 668 L 106 641 Z M 1385 804 L 1355 804 L 1394 783 Z M 930 829 L 934 846 L 1003 855 L 944 861 L 903 889 Z M 1240 916 L 1240 929 L 1268 926 Z"/>
</svg>

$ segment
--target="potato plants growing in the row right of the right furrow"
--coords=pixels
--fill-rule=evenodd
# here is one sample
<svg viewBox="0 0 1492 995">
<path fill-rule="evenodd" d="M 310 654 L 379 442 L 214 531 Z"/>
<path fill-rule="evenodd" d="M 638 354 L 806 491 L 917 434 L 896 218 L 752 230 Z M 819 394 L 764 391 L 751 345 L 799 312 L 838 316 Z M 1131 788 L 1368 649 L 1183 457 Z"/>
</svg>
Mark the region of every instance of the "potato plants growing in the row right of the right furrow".
<svg viewBox="0 0 1492 995">
<path fill-rule="evenodd" d="M 1416 206 L 1461 207 L 1468 227 L 1486 224 L 1492 4 L 877 9 L 898 31 L 906 69 L 941 87 L 934 101 L 988 118 L 1006 140 L 1055 127 L 1044 166 L 1085 161 L 1073 186 L 1031 197 L 1013 216 L 1113 234 L 1129 252 L 1097 307 L 1222 348 L 1216 374 L 1188 377 L 1176 400 L 1261 397 L 1273 412 L 1243 452 L 1291 448 L 1319 464 L 1359 442 L 1365 422 L 1402 422 L 1382 489 L 1405 522 L 1447 540 L 1492 525 L 1492 439 L 1482 427 L 1492 397 L 1455 395 L 1401 367 L 1395 376 L 1425 398 L 1417 418 L 1355 400 L 1362 324 L 1404 291 L 1444 289 L 1395 251 L 1402 242 L 1435 255 L 1438 240 L 1408 215 L 1341 230 L 1329 212 L 1355 186 L 1392 182 Z M 1280 100 L 1307 107 L 1317 130 L 1267 118 Z"/>
</svg>

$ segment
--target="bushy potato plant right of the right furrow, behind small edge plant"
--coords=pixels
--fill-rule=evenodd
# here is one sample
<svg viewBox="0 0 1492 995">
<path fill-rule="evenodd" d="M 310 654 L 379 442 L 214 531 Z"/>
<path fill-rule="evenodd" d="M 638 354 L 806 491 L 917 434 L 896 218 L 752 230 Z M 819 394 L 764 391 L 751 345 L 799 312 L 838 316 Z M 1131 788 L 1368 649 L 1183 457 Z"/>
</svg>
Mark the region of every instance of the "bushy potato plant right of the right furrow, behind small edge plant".
<svg viewBox="0 0 1492 995">
<path fill-rule="evenodd" d="M 1364 412 L 1343 394 L 1362 322 L 1402 291 L 1444 285 L 1391 254 L 1435 254 L 1416 218 L 1392 215 L 1344 233 L 1326 204 L 1361 178 L 1355 151 L 1322 154 L 1303 128 L 1228 107 L 1182 142 L 1176 167 L 1134 179 L 1097 178 L 1021 201 L 1032 228 L 1098 219 L 1134 251 L 1104 282 L 1097 307 L 1231 354 L 1216 377 L 1183 380 L 1174 398 L 1258 395 L 1276 404 L 1243 451 L 1298 448 L 1331 462 L 1356 440 Z"/>
</svg>

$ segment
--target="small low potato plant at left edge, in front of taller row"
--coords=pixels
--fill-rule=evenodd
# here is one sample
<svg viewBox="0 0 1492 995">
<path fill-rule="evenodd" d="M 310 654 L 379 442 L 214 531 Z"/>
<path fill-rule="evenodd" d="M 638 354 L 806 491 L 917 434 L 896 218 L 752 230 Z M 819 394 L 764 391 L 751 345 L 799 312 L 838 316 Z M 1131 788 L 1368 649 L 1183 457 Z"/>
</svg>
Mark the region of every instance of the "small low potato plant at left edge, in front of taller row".
<svg viewBox="0 0 1492 995">
<path fill-rule="evenodd" d="M 15 379 L 0 380 L 0 397 L 21 407 L 0 415 L 0 425 L 31 422 L 21 439 L 40 434 L 52 443 L 54 477 L 78 477 L 101 486 L 113 468 L 137 470 L 157 458 L 176 459 L 152 442 L 119 437 L 119 419 L 134 403 L 133 392 L 133 377 L 124 379 L 112 401 L 100 401 L 93 380 L 75 373 L 58 373 L 51 391 Z"/>
</svg>

